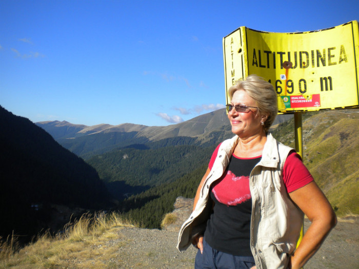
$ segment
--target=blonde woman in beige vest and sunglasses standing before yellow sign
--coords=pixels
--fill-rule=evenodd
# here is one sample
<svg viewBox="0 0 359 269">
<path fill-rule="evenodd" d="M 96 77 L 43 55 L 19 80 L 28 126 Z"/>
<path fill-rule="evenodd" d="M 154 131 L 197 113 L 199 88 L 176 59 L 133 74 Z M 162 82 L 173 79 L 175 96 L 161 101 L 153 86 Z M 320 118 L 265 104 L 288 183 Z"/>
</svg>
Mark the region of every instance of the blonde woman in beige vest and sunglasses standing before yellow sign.
<svg viewBox="0 0 359 269">
<path fill-rule="evenodd" d="M 335 214 L 300 156 L 268 133 L 277 114 L 273 86 L 250 75 L 229 96 L 235 136 L 214 151 L 177 248 L 198 248 L 195 268 L 301 268 Z M 303 213 L 311 225 L 296 248 Z"/>
</svg>

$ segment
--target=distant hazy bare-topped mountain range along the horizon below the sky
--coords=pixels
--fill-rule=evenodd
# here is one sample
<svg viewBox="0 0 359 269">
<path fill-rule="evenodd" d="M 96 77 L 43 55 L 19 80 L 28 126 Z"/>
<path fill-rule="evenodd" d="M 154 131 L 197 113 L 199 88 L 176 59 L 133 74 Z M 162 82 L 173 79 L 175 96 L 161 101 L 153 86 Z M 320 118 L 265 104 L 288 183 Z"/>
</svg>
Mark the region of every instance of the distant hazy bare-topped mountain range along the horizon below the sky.
<svg viewBox="0 0 359 269">
<path fill-rule="evenodd" d="M 278 115 L 274 124 L 292 118 Z M 133 144 L 146 144 L 175 137 L 192 137 L 197 144 L 213 140 L 213 132 L 231 135 L 226 110 L 220 109 L 193 119 L 169 126 L 144 126 L 132 123 L 120 125 L 100 124 L 94 126 L 74 125 L 67 121 L 41 121 L 35 123 L 43 128 L 63 147 L 85 159 L 103 154 L 115 148 Z"/>
</svg>

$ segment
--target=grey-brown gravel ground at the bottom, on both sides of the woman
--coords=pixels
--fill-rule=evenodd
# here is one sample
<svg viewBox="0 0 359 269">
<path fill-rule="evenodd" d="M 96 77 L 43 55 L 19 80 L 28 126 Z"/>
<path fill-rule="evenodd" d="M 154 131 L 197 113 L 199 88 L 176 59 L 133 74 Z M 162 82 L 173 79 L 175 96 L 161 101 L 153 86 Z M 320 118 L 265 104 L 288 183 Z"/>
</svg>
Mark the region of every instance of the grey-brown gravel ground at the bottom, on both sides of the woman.
<svg viewBox="0 0 359 269">
<path fill-rule="evenodd" d="M 359 268 L 358 228 L 358 217 L 338 222 L 305 269 Z M 109 262 L 113 268 L 193 268 L 196 249 L 179 253 L 176 243 L 176 232 L 123 228 L 108 242 L 118 245 L 118 258 Z"/>
</svg>

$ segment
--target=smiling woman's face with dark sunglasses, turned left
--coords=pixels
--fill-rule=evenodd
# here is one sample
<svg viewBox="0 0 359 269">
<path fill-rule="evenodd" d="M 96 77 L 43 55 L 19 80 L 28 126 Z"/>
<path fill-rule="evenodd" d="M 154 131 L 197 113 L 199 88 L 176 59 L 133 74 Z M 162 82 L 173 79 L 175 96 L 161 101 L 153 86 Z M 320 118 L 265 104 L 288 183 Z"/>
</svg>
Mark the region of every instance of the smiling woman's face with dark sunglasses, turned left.
<svg viewBox="0 0 359 269">
<path fill-rule="evenodd" d="M 231 104 L 257 107 L 256 101 L 244 90 L 234 92 Z M 259 115 L 257 108 L 248 108 L 246 112 L 237 112 L 232 108 L 232 110 L 228 112 L 228 119 L 232 126 L 232 132 L 241 138 L 263 133 L 263 127 L 261 125 L 262 117 Z"/>
</svg>

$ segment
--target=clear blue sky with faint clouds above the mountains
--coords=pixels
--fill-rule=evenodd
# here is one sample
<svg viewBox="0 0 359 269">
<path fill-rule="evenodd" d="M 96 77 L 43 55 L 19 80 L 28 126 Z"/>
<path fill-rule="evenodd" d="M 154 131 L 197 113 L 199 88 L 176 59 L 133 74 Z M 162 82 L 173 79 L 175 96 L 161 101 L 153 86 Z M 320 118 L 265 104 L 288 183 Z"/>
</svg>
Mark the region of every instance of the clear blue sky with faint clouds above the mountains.
<svg viewBox="0 0 359 269">
<path fill-rule="evenodd" d="M 0 105 L 33 122 L 166 126 L 223 108 L 222 38 L 311 31 L 359 1 L 1 0 Z"/>
</svg>

